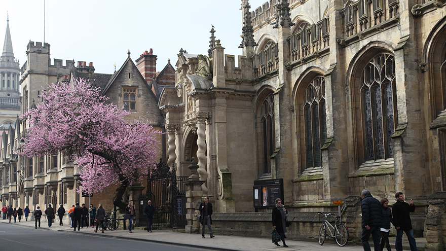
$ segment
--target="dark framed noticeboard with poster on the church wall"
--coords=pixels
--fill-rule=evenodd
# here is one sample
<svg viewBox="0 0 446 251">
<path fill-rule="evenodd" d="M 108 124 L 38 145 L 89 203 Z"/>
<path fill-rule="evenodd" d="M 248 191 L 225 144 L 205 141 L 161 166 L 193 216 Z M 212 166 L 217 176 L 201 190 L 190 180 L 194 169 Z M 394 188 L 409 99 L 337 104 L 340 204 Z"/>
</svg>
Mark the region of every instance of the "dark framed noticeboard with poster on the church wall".
<svg viewBox="0 0 446 251">
<path fill-rule="evenodd" d="M 253 194 L 255 208 L 274 207 L 277 198 L 281 198 L 284 203 L 283 178 L 254 181 Z"/>
</svg>

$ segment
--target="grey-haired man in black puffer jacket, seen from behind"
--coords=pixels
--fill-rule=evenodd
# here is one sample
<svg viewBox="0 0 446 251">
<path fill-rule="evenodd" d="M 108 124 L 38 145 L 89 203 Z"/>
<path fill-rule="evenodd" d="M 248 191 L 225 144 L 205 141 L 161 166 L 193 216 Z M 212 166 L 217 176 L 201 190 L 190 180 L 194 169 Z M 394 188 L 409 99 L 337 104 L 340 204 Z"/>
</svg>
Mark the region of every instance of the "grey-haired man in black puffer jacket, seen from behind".
<svg viewBox="0 0 446 251">
<path fill-rule="evenodd" d="M 368 244 L 368 238 L 370 234 L 373 238 L 373 245 L 375 251 L 381 251 L 380 228 L 383 222 L 382 214 L 383 209 L 378 199 L 375 199 L 370 194 L 370 190 L 362 190 L 361 211 L 362 211 L 362 247 L 365 251 L 370 251 L 370 245 Z"/>
</svg>

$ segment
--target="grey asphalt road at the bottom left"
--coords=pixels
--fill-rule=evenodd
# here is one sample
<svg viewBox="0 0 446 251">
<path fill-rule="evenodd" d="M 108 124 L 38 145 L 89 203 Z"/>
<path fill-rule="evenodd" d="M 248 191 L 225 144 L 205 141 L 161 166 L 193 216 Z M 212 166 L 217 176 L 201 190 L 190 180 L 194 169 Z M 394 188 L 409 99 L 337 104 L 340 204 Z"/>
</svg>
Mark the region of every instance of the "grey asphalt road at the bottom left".
<svg viewBox="0 0 446 251">
<path fill-rule="evenodd" d="M 208 250 L 158 244 L 147 241 L 109 238 L 82 234 L 33 229 L 10 224 L 0 224 L 0 250 L 10 251 L 79 251 L 79 250 Z"/>
</svg>

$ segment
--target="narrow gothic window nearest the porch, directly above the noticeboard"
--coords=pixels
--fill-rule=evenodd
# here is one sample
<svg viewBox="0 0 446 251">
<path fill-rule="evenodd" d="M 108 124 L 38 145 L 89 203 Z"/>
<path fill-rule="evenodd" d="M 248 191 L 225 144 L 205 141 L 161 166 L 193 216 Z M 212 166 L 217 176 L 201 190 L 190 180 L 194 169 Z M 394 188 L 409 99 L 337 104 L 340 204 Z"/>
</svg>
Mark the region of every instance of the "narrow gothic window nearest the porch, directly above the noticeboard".
<svg viewBox="0 0 446 251">
<path fill-rule="evenodd" d="M 263 173 L 271 173 L 270 157 L 275 150 L 274 96 L 270 94 L 261 107 Z"/>
</svg>

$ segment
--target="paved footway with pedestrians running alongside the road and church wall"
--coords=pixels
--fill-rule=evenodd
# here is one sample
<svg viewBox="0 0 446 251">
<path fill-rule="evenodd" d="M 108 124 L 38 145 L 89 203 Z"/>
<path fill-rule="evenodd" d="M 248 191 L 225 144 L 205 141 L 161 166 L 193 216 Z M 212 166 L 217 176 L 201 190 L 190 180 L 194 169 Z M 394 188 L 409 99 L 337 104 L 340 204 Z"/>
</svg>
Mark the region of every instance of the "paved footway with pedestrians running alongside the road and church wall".
<svg viewBox="0 0 446 251">
<path fill-rule="evenodd" d="M 69 225 L 59 226 L 58 218 L 56 217 L 56 223 L 48 227 L 48 223 L 46 219 L 42 218 L 41 230 L 50 230 L 50 231 L 65 231 L 76 234 L 88 234 L 88 235 L 98 235 L 101 237 L 110 237 L 110 238 L 119 238 L 119 239 L 131 239 L 138 241 L 147 241 L 161 244 L 173 244 L 185 247 L 197 247 L 197 248 L 209 248 L 213 250 L 243 250 L 243 251 L 259 251 L 259 250 L 324 250 L 324 251 L 332 251 L 332 250 L 355 250 L 360 251 L 363 250 L 362 245 L 360 243 L 354 243 L 349 241 L 346 246 L 340 247 L 336 244 L 336 242 L 331 240 L 326 240 L 323 246 L 319 245 L 317 241 L 309 242 L 309 241 L 297 241 L 297 240 L 286 240 L 286 244 L 289 247 L 283 246 L 275 246 L 271 239 L 268 238 L 254 238 L 254 237 L 243 237 L 243 236 L 234 236 L 234 235 L 218 235 L 218 232 L 215 232 L 215 238 L 210 238 L 209 234 L 206 235 L 206 238 L 203 239 L 201 234 L 188 234 L 181 232 L 174 232 L 171 229 L 168 230 L 154 230 L 152 233 L 148 233 L 146 230 L 132 230 L 132 233 L 129 233 L 128 230 L 115 230 L 110 231 L 107 230 L 105 233 L 101 233 L 98 231 L 95 233 L 93 230 L 96 228 L 81 228 L 81 230 L 73 231 Z M 0 220 L 0 223 L 3 224 L 14 224 L 16 226 L 23 226 L 27 228 L 34 228 L 34 221 L 24 221 L 24 219 L 19 223 L 9 223 L 8 220 Z M 207 232 L 207 230 L 206 230 Z M 403 249 L 410 250 L 407 239 L 404 239 L 403 236 Z M 425 238 L 416 238 L 417 239 L 417 247 L 420 251 L 424 250 L 424 245 L 426 244 Z M 279 242 L 281 245 L 282 243 Z M 370 244 L 373 244 L 370 238 Z M 390 243 L 395 243 L 395 238 L 390 238 Z M 373 248 L 373 247 L 372 247 Z M 392 245 L 392 249 L 394 249 L 394 244 Z"/>
</svg>

